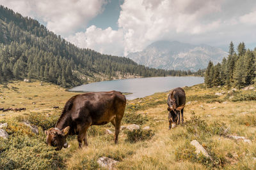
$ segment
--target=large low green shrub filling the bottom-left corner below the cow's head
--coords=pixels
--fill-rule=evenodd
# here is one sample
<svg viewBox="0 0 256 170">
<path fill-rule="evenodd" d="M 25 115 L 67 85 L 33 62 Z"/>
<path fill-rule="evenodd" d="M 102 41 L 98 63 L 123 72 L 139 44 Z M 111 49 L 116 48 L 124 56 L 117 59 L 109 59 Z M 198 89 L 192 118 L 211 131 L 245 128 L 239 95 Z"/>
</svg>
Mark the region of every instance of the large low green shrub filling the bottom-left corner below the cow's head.
<svg viewBox="0 0 256 170">
<path fill-rule="evenodd" d="M 62 169 L 63 159 L 40 138 L 26 135 L 0 138 L 0 169 Z"/>
</svg>

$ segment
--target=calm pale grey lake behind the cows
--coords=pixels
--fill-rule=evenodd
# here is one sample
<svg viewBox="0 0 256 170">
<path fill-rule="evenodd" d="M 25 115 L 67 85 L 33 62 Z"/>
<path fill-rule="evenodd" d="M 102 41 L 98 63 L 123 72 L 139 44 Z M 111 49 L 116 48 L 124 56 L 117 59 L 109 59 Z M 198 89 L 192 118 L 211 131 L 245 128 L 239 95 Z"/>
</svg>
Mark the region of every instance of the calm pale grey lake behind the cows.
<svg viewBox="0 0 256 170">
<path fill-rule="evenodd" d="M 138 97 L 150 96 L 156 92 L 166 92 L 175 87 L 192 86 L 203 83 L 203 77 L 193 76 L 166 76 L 150 78 L 131 78 L 125 80 L 100 81 L 81 85 L 70 89 L 70 91 L 83 92 L 107 92 L 116 90 L 129 92 L 126 99 L 132 100 Z"/>
</svg>

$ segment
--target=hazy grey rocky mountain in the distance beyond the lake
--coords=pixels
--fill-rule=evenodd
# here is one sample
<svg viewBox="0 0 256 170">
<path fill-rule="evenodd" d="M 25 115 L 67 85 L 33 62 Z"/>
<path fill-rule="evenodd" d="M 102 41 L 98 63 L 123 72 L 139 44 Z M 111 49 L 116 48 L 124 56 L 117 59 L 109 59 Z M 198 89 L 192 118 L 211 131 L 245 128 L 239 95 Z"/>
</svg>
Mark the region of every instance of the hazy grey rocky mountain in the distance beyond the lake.
<svg viewBox="0 0 256 170">
<path fill-rule="evenodd" d="M 129 53 L 129 59 L 157 69 L 198 71 L 211 60 L 221 62 L 227 53 L 209 45 L 191 45 L 179 41 L 156 41 L 141 52 Z"/>
</svg>

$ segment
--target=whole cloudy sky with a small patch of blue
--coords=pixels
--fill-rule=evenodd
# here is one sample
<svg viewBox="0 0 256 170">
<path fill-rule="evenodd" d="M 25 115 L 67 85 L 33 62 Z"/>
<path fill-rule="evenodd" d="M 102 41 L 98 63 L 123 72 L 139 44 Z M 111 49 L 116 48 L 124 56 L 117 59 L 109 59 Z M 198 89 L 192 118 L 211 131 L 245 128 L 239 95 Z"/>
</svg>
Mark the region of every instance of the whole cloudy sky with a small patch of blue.
<svg viewBox="0 0 256 170">
<path fill-rule="evenodd" d="M 126 56 L 158 40 L 256 46 L 254 0 L 0 0 L 82 48 Z"/>
</svg>

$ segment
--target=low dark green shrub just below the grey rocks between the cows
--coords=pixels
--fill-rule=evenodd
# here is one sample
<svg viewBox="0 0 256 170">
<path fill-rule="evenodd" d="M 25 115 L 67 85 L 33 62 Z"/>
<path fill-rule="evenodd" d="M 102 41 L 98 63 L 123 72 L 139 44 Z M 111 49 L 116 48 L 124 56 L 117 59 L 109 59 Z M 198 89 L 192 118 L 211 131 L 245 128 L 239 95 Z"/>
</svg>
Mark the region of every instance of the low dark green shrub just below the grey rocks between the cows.
<svg viewBox="0 0 256 170">
<path fill-rule="evenodd" d="M 127 134 L 126 141 L 129 141 L 130 143 L 145 141 L 154 136 L 154 132 L 152 132 L 152 130 L 134 129 L 133 131 L 125 131 L 125 133 Z"/>
</svg>

